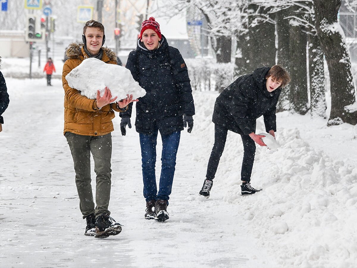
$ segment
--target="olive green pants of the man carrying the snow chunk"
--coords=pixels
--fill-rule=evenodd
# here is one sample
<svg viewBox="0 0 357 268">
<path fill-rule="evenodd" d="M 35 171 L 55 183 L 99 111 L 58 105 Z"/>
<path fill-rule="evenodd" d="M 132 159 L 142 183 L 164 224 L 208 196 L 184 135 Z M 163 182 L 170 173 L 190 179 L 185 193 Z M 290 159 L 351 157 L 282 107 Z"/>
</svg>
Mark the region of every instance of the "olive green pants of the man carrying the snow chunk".
<svg viewBox="0 0 357 268">
<path fill-rule="evenodd" d="M 104 136 L 84 136 L 66 132 L 65 137 L 74 162 L 76 185 L 79 196 L 79 208 L 86 218 L 90 214 L 108 213 L 111 188 L 111 134 Z M 90 174 L 90 153 L 94 159 L 96 177 L 96 207 L 94 208 Z"/>
</svg>

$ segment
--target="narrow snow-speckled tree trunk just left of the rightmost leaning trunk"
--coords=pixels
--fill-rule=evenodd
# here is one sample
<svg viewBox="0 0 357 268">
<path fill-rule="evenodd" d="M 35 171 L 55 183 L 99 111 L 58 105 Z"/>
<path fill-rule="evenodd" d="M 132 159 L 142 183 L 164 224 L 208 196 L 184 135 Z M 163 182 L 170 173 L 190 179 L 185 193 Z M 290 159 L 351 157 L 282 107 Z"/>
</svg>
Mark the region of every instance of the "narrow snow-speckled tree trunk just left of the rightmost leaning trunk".
<svg viewBox="0 0 357 268">
<path fill-rule="evenodd" d="M 311 116 L 326 117 L 323 52 L 316 35 L 308 35 Z"/>
</svg>

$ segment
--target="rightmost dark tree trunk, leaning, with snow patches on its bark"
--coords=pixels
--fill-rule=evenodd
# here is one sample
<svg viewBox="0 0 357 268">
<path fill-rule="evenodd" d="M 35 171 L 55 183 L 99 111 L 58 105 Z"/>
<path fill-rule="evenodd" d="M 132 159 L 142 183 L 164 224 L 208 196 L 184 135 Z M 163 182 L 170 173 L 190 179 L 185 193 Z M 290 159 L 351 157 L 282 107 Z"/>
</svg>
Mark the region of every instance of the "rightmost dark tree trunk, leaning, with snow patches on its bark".
<svg viewBox="0 0 357 268">
<path fill-rule="evenodd" d="M 325 54 L 331 82 L 331 113 L 327 125 L 343 122 L 357 124 L 357 111 L 346 106 L 355 104 L 351 60 L 345 35 L 337 21 L 341 0 L 315 0 L 316 30 Z M 350 106 L 350 107 L 351 107 Z"/>
</svg>

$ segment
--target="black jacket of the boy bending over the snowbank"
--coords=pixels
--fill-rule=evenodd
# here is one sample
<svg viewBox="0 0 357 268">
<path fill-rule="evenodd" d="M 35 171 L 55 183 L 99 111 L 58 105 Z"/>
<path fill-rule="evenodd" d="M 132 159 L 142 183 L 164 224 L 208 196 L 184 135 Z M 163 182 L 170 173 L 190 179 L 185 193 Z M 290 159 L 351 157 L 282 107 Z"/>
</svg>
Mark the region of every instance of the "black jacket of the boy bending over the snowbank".
<svg viewBox="0 0 357 268">
<path fill-rule="evenodd" d="M 281 92 L 266 89 L 271 67 L 261 67 L 237 78 L 217 97 L 212 121 L 243 135 L 255 132 L 256 119 L 264 117 L 265 129 L 276 131 L 276 104 Z"/>
</svg>

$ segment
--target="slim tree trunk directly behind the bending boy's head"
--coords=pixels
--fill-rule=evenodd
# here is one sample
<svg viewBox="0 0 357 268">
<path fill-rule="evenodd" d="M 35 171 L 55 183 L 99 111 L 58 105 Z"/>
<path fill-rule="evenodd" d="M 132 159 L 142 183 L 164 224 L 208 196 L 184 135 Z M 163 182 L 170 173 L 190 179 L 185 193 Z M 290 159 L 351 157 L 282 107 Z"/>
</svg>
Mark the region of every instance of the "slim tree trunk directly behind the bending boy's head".
<svg viewBox="0 0 357 268">
<path fill-rule="evenodd" d="M 276 33 L 278 39 L 277 63 L 283 66 L 288 73 L 290 71 L 290 50 L 289 40 L 289 22 L 285 19 L 290 13 L 290 9 L 280 10 L 276 13 Z M 289 110 L 290 84 L 288 84 L 280 93 L 279 101 L 276 107 L 278 112 Z"/>
</svg>

